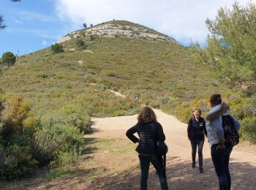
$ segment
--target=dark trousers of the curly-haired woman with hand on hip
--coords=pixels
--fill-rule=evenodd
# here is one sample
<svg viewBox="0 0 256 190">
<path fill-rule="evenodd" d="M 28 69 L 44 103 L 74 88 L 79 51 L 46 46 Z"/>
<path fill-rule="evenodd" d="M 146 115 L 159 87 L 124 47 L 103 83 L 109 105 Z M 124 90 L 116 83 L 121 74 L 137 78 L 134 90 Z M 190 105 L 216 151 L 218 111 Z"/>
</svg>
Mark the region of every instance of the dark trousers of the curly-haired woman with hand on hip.
<svg viewBox="0 0 256 190">
<path fill-rule="evenodd" d="M 154 168 L 157 170 L 157 175 L 159 177 L 161 189 L 168 189 L 167 180 L 164 177 L 164 168 L 162 164 L 160 164 L 157 156 L 143 156 L 139 154 L 140 159 L 140 189 L 146 190 L 148 188 L 148 170 L 150 162 L 153 164 Z"/>
</svg>

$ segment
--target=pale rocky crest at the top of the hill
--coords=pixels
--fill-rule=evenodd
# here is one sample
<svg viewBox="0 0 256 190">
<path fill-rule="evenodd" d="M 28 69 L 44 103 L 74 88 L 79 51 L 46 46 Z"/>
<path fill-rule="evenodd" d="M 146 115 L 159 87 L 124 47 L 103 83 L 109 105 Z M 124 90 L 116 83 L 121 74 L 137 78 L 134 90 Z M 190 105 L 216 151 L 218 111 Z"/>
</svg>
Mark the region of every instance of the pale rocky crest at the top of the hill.
<svg viewBox="0 0 256 190">
<path fill-rule="evenodd" d="M 161 34 L 151 28 L 140 26 L 138 24 L 130 23 L 128 21 L 110 21 L 102 23 L 91 28 L 85 28 L 80 31 L 74 31 L 64 37 L 59 38 L 57 43 L 65 42 L 70 39 L 79 37 L 80 35 L 91 36 L 97 35 L 99 37 L 129 37 L 129 38 L 146 38 L 151 40 L 162 40 L 179 44 L 175 39 Z"/>
</svg>

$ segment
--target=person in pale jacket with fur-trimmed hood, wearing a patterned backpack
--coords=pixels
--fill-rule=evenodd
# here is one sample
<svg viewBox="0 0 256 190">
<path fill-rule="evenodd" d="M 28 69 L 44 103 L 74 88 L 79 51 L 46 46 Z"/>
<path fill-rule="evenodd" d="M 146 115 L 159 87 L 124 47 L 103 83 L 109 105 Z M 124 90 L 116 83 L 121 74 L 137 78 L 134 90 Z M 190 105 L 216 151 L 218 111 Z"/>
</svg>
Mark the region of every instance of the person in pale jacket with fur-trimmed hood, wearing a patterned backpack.
<svg viewBox="0 0 256 190">
<path fill-rule="evenodd" d="M 230 153 L 233 145 L 238 143 L 236 135 L 241 124 L 233 118 L 227 110 L 227 104 L 222 103 L 220 94 L 213 94 L 210 98 L 212 109 L 206 115 L 206 131 L 208 142 L 211 145 L 211 159 L 214 163 L 215 172 L 219 179 L 219 189 L 226 190 L 231 188 L 231 177 L 229 171 Z M 235 143 L 230 142 L 231 131 L 236 130 Z"/>
</svg>

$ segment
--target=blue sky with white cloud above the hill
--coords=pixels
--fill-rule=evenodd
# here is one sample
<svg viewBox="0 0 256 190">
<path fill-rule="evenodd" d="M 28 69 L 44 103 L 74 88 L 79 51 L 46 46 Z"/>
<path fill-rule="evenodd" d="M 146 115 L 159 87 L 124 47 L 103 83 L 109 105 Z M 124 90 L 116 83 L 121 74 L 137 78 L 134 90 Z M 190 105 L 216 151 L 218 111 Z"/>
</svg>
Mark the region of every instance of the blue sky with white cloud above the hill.
<svg viewBox="0 0 256 190">
<path fill-rule="evenodd" d="M 56 42 L 59 37 L 108 20 L 129 20 L 175 38 L 183 45 L 204 45 L 206 18 L 214 19 L 219 7 L 233 0 L 0 0 L 0 14 L 8 26 L 0 30 L 0 55 L 23 55 Z M 246 5 L 249 0 L 238 1 Z M 252 1 L 255 2 L 255 1 Z"/>
</svg>

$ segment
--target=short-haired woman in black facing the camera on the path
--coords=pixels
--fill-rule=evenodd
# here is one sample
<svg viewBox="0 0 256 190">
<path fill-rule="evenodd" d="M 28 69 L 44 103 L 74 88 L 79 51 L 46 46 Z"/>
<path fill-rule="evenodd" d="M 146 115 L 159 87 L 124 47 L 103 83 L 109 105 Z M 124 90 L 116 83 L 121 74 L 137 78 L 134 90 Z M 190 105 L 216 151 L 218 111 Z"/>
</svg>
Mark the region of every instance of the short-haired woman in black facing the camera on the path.
<svg viewBox="0 0 256 190">
<path fill-rule="evenodd" d="M 205 140 L 206 121 L 201 118 L 201 110 L 193 109 L 193 117 L 189 119 L 187 126 L 187 136 L 192 147 L 192 168 L 195 168 L 195 155 L 198 148 L 199 171 L 203 173 L 203 143 Z"/>
</svg>

